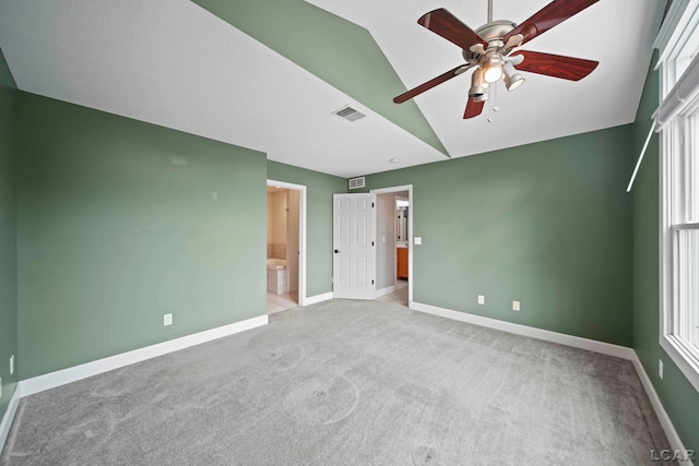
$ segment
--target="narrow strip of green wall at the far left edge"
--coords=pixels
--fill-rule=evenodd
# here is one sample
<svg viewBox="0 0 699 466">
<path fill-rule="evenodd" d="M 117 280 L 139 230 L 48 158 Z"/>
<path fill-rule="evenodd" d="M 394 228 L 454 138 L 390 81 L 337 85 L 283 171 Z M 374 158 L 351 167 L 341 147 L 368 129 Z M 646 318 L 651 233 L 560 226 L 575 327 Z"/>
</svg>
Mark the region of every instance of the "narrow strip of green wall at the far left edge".
<svg viewBox="0 0 699 466">
<path fill-rule="evenodd" d="M 17 372 L 10 375 L 10 357 L 17 353 L 15 136 L 19 95 L 0 50 L 0 420 L 17 381 Z"/>
</svg>

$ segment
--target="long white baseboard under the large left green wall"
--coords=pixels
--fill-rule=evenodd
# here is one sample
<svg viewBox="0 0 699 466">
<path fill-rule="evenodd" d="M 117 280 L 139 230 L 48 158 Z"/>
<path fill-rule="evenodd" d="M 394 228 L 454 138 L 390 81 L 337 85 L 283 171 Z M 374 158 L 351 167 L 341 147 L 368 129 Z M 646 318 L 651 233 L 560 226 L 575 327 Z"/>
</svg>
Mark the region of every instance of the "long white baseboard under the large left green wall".
<svg viewBox="0 0 699 466">
<path fill-rule="evenodd" d="M 233 324 L 146 346 L 145 348 L 134 349 L 132 351 L 122 353 L 120 355 L 110 356 L 108 358 L 26 379 L 21 381 L 19 385 L 22 390 L 22 396 L 29 396 L 81 379 L 86 379 L 103 372 L 177 351 L 179 349 L 189 348 L 190 346 L 200 345 L 202 343 L 265 325 L 268 322 L 269 319 L 266 314 L 247 319 Z"/>
</svg>

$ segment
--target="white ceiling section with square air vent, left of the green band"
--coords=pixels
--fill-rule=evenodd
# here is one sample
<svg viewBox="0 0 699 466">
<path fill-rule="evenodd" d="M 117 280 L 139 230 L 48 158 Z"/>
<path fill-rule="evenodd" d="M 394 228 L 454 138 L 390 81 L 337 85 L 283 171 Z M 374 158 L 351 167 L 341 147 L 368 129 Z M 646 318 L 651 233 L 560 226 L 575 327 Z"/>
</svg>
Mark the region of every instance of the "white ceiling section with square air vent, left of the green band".
<svg viewBox="0 0 699 466">
<path fill-rule="evenodd" d="M 0 3 L 17 86 L 352 177 L 445 155 L 188 0 Z M 367 117 L 331 115 L 345 105 Z"/>
</svg>

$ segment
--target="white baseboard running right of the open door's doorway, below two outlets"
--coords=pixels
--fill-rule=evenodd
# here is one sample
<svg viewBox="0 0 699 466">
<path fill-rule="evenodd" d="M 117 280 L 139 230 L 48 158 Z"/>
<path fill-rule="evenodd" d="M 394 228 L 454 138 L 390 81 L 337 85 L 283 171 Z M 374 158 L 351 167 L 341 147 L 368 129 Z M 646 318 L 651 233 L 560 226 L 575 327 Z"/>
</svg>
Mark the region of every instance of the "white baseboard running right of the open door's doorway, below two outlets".
<svg viewBox="0 0 699 466">
<path fill-rule="evenodd" d="M 512 322 L 499 321 L 497 319 L 484 318 L 482 315 L 452 311 L 450 309 L 423 304 L 420 302 L 413 302 L 413 307 L 411 309 L 447 319 L 453 319 L 460 322 L 466 322 L 474 325 L 500 330 L 517 335 L 530 336 L 532 338 L 544 339 L 546 342 L 558 343 L 566 346 L 572 346 L 573 348 L 587 349 L 590 351 L 601 353 L 603 355 L 615 356 L 617 358 L 631 360 L 631 358 L 636 355 L 632 348 L 626 346 L 613 345 L 611 343 L 597 342 L 594 339 L 582 338 L 580 336 L 566 335 L 564 333 L 535 328 L 526 325 L 516 324 Z"/>
</svg>

